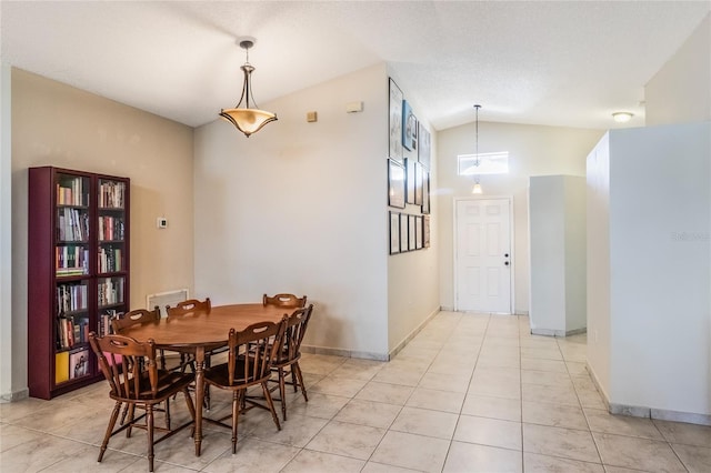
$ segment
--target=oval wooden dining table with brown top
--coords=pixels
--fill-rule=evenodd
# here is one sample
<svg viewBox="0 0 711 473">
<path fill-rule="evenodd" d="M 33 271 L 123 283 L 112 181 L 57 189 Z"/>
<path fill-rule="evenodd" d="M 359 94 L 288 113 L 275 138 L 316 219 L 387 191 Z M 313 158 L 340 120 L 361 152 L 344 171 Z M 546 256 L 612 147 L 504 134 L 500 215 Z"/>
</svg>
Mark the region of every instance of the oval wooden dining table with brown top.
<svg viewBox="0 0 711 473">
<path fill-rule="evenodd" d="M 160 321 L 136 324 L 122 329 L 120 334 L 138 341 L 153 340 L 157 349 L 181 348 L 196 354 L 196 455 L 202 444 L 202 403 L 204 400 L 204 354 L 228 343 L 230 329 L 243 330 L 257 322 L 281 322 L 290 309 L 274 305 L 218 305 L 209 312 L 190 312 Z"/>
</svg>

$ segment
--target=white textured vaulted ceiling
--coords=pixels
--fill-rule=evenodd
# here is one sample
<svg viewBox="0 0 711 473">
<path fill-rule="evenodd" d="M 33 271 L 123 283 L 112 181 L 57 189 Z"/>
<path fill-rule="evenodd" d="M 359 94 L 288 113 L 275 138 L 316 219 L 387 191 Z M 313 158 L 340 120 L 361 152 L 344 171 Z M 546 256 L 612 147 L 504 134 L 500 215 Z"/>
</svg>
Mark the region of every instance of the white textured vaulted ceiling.
<svg viewBox="0 0 711 473">
<path fill-rule="evenodd" d="M 644 84 L 710 1 L 7 1 L 2 61 L 196 127 L 385 61 L 435 129 L 642 125 Z M 383 87 L 385 87 L 383 84 Z M 349 97 L 348 100 L 358 100 Z M 278 110 L 274 110 L 279 112 Z"/>
</svg>

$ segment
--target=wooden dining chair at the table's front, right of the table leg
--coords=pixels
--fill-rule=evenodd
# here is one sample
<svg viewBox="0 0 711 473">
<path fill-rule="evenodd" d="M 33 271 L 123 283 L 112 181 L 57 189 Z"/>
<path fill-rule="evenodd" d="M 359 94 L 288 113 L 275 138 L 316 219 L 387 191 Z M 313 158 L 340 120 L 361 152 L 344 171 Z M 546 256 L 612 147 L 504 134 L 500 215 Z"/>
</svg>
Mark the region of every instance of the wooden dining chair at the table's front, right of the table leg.
<svg viewBox="0 0 711 473">
<path fill-rule="evenodd" d="M 206 419 L 208 422 L 232 429 L 232 453 L 237 453 L 237 426 L 241 413 L 252 407 L 263 407 L 271 412 L 277 429 L 281 430 L 279 416 L 274 410 L 268 382 L 271 376 L 271 365 L 277 356 L 279 346 L 283 343 L 287 319 L 280 323 L 259 322 L 237 332 L 231 329 L 228 343 L 228 362 L 209 368 L 204 373 L 208 385 L 221 390 L 232 391 L 232 413 L 222 419 Z M 251 402 L 247 399 L 247 390 L 261 385 L 267 405 Z M 249 404 L 249 405 L 248 405 Z M 232 424 L 224 421 L 232 417 Z"/>
</svg>

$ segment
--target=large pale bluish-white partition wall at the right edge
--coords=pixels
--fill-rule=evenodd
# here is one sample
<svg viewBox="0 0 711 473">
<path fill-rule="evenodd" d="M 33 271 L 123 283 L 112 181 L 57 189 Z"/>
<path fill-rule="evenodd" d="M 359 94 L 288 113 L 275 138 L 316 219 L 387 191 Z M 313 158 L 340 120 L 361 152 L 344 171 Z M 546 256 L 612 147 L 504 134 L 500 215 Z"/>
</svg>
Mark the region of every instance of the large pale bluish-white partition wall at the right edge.
<svg viewBox="0 0 711 473">
<path fill-rule="evenodd" d="M 711 423 L 710 149 L 709 122 L 609 133 L 609 274 L 591 275 L 588 298 L 609 288 L 607 313 L 589 310 L 589 363 L 613 412 Z M 604 239 L 590 223 L 588 240 Z"/>
</svg>

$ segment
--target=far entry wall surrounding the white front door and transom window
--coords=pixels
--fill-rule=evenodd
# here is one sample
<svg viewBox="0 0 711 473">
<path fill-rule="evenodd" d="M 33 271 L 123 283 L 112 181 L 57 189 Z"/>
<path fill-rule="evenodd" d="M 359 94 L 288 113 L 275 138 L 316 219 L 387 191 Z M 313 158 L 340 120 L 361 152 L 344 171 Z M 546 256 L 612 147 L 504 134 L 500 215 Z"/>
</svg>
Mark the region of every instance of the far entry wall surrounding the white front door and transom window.
<svg viewBox="0 0 711 473">
<path fill-rule="evenodd" d="M 485 113 L 485 107 L 480 112 Z M 473 118 L 473 109 L 472 109 Z M 517 313 L 529 311 L 528 185 L 532 175 L 585 174 L 585 157 L 603 131 L 510 123 L 479 123 L 479 152 L 509 151 L 509 174 L 483 175 L 484 195 L 513 197 Z M 454 306 L 453 198 L 471 195 L 472 180 L 457 175 L 457 155 L 474 152 L 474 123 L 438 133 L 440 301 Z"/>
</svg>

